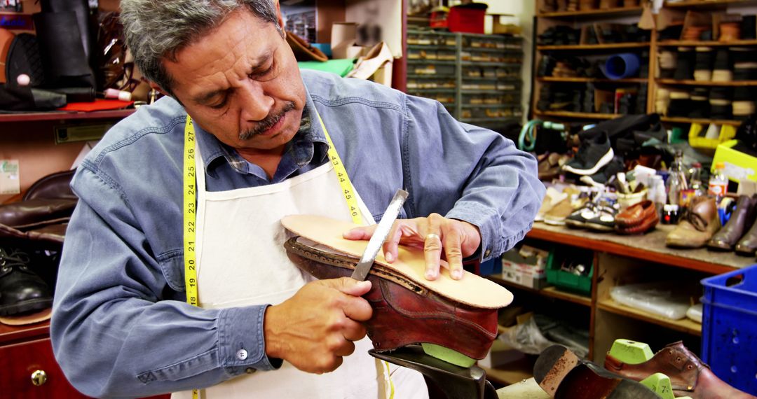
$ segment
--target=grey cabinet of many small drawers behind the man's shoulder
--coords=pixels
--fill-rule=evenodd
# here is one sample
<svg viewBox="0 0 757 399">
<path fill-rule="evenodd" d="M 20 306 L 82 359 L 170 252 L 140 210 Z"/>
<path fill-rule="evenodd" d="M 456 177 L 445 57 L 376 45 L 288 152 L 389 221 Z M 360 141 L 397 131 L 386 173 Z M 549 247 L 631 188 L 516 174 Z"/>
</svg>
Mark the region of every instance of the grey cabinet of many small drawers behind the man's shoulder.
<svg viewBox="0 0 757 399">
<path fill-rule="evenodd" d="M 521 38 L 416 29 L 407 48 L 408 94 L 439 101 L 461 122 L 521 119 Z"/>
</svg>

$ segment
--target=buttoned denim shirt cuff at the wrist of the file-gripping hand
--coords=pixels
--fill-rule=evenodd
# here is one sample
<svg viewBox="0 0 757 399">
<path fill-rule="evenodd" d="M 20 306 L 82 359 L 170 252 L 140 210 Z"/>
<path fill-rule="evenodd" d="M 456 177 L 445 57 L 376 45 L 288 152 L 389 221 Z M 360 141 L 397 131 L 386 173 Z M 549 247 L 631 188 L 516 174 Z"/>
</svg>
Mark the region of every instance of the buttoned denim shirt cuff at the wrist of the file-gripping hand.
<svg viewBox="0 0 757 399">
<path fill-rule="evenodd" d="M 226 308 L 218 321 L 221 366 L 230 376 L 276 370 L 283 360 L 266 356 L 263 316 L 269 305 Z"/>
</svg>

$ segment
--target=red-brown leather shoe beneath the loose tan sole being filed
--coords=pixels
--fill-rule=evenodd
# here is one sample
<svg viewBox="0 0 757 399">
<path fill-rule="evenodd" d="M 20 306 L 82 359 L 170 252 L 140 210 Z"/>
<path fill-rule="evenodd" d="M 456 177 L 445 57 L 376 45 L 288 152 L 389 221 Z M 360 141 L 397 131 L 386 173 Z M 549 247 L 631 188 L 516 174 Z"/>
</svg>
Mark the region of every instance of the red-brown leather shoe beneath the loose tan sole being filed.
<svg viewBox="0 0 757 399">
<path fill-rule="evenodd" d="M 357 264 L 357 258 L 316 249 L 298 242 L 298 237 L 284 247 L 294 264 L 318 279 L 350 277 Z M 496 308 L 445 298 L 378 263 L 368 280 L 372 288 L 363 298 L 371 304 L 373 316 L 365 324 L 377 351 L 426 342 L 483 359 L 497 338 Z"/>
</svg>

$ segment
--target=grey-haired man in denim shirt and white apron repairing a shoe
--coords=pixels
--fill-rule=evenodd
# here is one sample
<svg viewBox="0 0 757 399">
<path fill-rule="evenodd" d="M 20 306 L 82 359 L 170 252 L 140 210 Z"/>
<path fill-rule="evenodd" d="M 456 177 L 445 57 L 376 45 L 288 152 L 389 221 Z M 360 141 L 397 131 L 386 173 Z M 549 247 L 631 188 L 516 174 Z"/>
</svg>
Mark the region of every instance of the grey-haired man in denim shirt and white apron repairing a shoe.
<svg viewBox="0 0 757 399">
<path fill-rule="evenodd" d="M 393 370 L 388 380 L 366 354 L 360 322 L 371 308 L 360 295 L 370 283 L 310 282 L 286 258 L 279 220 L 378 220 L 403 187 L 410 198 L 385 256 L 397 258 L 398 243 L 423 246 L 433 280 L 444 252 L 459 279 L 463 258 L 498 255 L 531 227 L 544 194 L 534 159 L 435 101 L 300 72 L 272 0 L 121 8 L 137 65 L 168 97 L 112 128 L 73 179 L 80 201 L 51 323 L 70 382 L 95 397 L 207 388 L 205 397 L 362 398 L 391 385 L 396 397 L 425 394 L 417 376 Z M 185 150 L 198 172 L 188 229 Z M 189 230 L 198 307 L 185 303 Z"/>
</svg>

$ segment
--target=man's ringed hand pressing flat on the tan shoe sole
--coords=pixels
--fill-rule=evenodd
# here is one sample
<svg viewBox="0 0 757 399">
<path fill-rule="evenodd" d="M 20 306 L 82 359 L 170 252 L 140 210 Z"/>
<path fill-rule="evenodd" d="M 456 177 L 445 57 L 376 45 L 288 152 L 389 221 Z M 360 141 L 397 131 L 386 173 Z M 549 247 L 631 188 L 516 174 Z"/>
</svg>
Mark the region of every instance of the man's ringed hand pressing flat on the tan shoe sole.
<svg viewBox="0 0 757 399">
<path fill-rule="evenodd" d="M 347 240 L 369 240 L 377 225 L 355 227 L 344 232 Z M 450 276 L 463 278 L 463 258 L 473 255 L 481 245 L 478 227 L 467 221 L 444 218 L 438 213 L 428 218 L 399 219 L 391 227 L 384 243 L 384 258 L 388 262 L 397 259 L 399 244 L 423 249 L 425 254 L 425 278 L 436 280 L 441 265 L 450 269 Z M 442 259 L 442 251 L 444 258 Z"/>
</svg>

